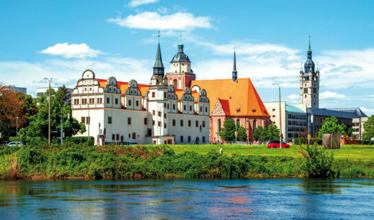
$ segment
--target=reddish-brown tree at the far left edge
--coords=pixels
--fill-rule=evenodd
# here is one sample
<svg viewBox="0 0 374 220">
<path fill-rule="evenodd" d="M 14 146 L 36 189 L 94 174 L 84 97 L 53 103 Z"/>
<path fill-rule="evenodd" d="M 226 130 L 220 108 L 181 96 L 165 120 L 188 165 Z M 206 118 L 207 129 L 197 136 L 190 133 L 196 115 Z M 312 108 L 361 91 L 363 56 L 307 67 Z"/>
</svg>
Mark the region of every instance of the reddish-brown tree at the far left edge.
<svg viewBox="0 0 374 220">
<path fill-rule="evenodd" d="M 16 121 L 21 128 L 25 124 L 27 116 L 23 113 L 23 100 L 16 96 L 16 92 L 10 87 L 0 83 L 0 141 L 8 140 L 10 136 L 16 136 Z"/>
</svg>

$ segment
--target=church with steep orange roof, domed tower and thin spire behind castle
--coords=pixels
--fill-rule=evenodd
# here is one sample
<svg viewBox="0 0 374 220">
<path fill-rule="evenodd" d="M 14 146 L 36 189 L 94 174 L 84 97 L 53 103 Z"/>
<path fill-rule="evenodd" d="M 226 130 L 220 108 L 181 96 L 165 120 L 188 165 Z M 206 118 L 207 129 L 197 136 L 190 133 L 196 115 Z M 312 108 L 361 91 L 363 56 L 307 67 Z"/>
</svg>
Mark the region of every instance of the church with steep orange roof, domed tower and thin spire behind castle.
<svg viewBox="0 0 374 220">
<path fill-rule="evenodd" d="M 224 120 L 233 118 L 246 129 L 247 142 L 252 142 L 254 129 L 257 126 L 267 128 L 271 123 L 270 115 L 250 78 L 237 78 L 235 52 L 231 78 L 196 80 L 196 74 L 191 69 L 191 61 L 184 53 L 183 47 L 183 43 L 180 42 L 178 52 L 170 62 L 170 73 L 166 74 L 167 82 L 178 89 L 191 87 L 193 92 L 200 93 L 204 88 L 207 92 L 211 109 L 209 141 L 222 142 L 219 133 Z"/>
</svg>

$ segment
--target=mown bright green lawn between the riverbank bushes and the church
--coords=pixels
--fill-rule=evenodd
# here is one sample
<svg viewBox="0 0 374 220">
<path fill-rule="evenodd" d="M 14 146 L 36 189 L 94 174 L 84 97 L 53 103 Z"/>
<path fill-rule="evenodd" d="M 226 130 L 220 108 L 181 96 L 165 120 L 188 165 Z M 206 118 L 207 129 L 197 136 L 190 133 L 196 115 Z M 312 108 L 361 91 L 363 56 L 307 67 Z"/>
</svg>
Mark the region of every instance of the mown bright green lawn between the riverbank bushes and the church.
<svg viewBox="0 0 374 220">
<path fill-rule="evenodd" d="M 298 146 L 290 148 L 267 148 L 266 145 L 238 145 L 238 144 L 224 144 L 220 145 L 223 148 L 224 155 L 235 153 L 236 155 L 272 155 L 272 156 L 290 156 L 301 157 L 301 153 L 297 151 Z M 211 150 L 219 151 L 219 146 L 215 144 L 176 144 L 170 145 L 175 153 L 183 153 L 184 151 L 194 151 L 196 153 L 208 153 Z M 331 150 L 326 150 L 331 151 Z M 332 150 L 334 157 L 347 159 L 374 159 L 373 145 L 342 145 L 340 150 Z"/>
</svg>

